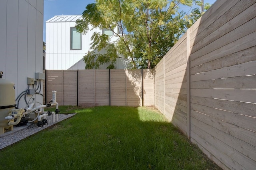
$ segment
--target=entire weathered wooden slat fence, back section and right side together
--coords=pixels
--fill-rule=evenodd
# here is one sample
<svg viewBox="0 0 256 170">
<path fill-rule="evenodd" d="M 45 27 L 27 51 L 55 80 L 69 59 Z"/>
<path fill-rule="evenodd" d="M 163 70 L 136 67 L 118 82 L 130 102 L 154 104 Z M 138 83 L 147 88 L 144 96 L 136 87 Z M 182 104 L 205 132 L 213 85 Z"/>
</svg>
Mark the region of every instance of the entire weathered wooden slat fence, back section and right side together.
<svg viewBox="0 0 256 170">
<path fill-rule="evenodd" d="M 154 105 L 221 168 L 254 170 L 255 9 L 217 0 L 154 70 L 46 70 L 46 100 L 57 90 L 61 105 Z"/>
</svg>

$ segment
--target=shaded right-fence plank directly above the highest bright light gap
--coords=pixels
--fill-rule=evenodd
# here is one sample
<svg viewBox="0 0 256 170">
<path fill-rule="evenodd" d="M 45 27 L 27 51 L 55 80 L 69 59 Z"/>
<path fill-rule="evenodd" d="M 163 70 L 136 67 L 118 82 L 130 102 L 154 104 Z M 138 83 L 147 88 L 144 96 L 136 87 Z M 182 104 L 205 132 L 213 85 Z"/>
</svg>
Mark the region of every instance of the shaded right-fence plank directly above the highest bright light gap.
<svg viewBox="0 0 256 170">
<path fill-rule="evenodd" d="M 256 74 L 256 60 L 190 76 L 191 82 Z"/>
</svg>

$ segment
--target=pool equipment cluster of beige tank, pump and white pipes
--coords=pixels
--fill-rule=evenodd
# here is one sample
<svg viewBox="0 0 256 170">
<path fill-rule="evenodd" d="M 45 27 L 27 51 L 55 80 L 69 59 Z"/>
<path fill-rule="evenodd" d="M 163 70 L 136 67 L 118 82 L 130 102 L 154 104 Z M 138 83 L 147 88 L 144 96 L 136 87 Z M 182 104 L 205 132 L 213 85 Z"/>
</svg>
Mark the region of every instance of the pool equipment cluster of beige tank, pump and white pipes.
<svg viewBox="0 0 256 170">
<path fill-rule="evenodd" d="M 9 80 L 2 78 L 3 72 L 0 72 L 0 135 L 6 131 L 12 131 L 14 125 L 37 123 L 38 127 L 45 126 L 48 122 L 46 116 L 53 116 L 53 123 L 58 121 L 58 103 L 56 102 L 56 91 L 52 91 L 51 103 L 35 106 L 39 102 L 31 102 L 25 108 L 16 107 L 15 85 Z M 44 112 L 45 107 L 56 106 L 55 112 Z M 40 111 L 42 109 L 42 111 Z"/>
</svg>

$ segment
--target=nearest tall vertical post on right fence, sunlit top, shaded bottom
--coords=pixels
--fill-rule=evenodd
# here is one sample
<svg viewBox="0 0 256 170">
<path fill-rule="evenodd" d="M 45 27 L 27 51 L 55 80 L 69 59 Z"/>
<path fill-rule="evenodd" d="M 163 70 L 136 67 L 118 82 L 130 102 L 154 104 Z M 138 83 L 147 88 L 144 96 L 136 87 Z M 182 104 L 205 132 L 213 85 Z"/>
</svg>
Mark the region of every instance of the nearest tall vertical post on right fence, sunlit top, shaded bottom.
<svg viewBox="0 0 256 170">
<path fill-rule="evenodd" d="M 190 140 L 190 29 L 187 30 L 187 135 Z"/>
</svg>

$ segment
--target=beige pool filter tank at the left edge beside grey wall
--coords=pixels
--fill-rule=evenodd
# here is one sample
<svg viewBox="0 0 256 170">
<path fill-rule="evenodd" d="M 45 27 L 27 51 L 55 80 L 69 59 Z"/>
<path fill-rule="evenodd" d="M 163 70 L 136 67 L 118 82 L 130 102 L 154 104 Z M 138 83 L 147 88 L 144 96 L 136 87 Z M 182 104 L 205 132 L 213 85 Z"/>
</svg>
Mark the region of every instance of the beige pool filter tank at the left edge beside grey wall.
<svg viewBox="0 0 256 170">
<path fill-rule="evenodd" d="M 6 131 L 12 131 L 13 125 L 8 125 L 12 119 L 5 119 L 12 109 L 15 109 L 15 85 L 13 82 L 2 78 L 3 72 L 0 72 L 0 134 Z M 13 117 L 14 119 L 14 117 Z"/>
</svg>

